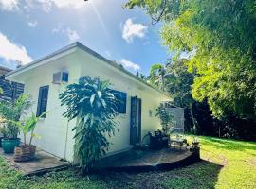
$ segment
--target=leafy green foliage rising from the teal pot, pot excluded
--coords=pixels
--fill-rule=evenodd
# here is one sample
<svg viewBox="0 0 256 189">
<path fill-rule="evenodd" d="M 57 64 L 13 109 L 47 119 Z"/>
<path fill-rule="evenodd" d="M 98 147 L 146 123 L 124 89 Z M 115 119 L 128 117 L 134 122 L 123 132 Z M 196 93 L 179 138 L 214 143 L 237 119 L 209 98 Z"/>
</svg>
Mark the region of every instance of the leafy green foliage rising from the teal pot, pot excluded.
<svg viewBox="0 0 256 189">
<path fill-rule="evenodd" d="M 9 120 L 19 121 L 21 115 L 27 114 L 27 110 L 31 105 L 32 103 L 28 94 L 23 94 L 16 100 L 0 102 L 0 117 L 5 122 L 2 128 L 4 137 L 9 139 L 17 138 L 20 129 Z"/>
</svg>

